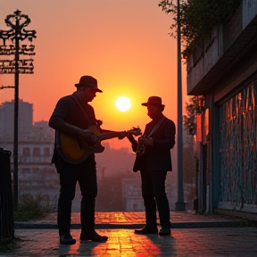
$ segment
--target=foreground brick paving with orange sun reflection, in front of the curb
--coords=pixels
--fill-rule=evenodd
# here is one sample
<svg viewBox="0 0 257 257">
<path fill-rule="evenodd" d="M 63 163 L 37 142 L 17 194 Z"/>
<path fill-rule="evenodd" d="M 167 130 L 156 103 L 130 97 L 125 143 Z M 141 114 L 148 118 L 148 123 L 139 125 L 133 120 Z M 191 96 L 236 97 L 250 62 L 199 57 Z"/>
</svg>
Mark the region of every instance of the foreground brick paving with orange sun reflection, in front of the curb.
<svg viewBox="0 0 257 257">
<path fill-rule="evenodd" d="M 15 251 L 0 253 L 3 257 L 210 257 L 257 256 L 257 228 L 190 228 L 172 229 L 172 236 L 140 236 L 133 229 L 99 229 L 109 236 L 106 243 L 80 243 L 80 230 L 71 230 L 76 245 L 59 245 L 56 229 L 17 229 L 21 240 Z"/>
</svg>

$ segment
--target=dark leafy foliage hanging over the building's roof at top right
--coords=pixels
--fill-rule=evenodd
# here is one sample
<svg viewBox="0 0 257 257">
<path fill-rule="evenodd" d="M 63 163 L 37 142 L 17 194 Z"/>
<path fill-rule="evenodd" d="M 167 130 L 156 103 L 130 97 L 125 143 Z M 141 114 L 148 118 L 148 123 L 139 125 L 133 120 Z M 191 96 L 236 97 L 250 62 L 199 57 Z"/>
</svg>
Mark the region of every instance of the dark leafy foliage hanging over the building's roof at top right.
<svg viewBox="0 0 257 257">
<path fill-rule="evenodd" d="M 170 35 L 176 37 L 178 17 L 180 18 L 181 41 L 186 47 L 183 55 L 187 58 L 211 29 L 228 21 L 242 0 L 162 0 L 159 4 L 162 11 L 173 14 L 175 21 Z M 174 33 L 175 32 L 175 33 Z"/>
</svg>

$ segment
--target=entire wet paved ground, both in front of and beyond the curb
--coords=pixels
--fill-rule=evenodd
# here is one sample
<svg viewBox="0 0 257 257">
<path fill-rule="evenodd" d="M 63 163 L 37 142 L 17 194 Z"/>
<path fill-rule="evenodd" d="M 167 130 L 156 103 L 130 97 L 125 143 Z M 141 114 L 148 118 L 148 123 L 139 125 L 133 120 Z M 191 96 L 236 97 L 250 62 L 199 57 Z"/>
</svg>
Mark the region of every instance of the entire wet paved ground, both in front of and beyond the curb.
<svg viewBox="0 0 257 257">
<path fill-rule="evenodd" d="M 134 234 L 134 228 L 145 223 L 144 212 L 97 212 L 96 231 L 109 236 L 108 241 L 102 244 L 80 243 L 79 213 L 75 212 L 72 213 L 71 235 L 77 243 L 60 245 L 58 230 L 52 228 L 56 226 L 56 213 L 50 213 L 44 220 L 15 223 L 17 247 L 0 255 L 257 256 L 257 228 L 249 227 L 244 219 L 217 214 L 206 216 L 187 211 L 170 211 L 170 217 L 171 236 L 141 236 Z"/>
</svg>

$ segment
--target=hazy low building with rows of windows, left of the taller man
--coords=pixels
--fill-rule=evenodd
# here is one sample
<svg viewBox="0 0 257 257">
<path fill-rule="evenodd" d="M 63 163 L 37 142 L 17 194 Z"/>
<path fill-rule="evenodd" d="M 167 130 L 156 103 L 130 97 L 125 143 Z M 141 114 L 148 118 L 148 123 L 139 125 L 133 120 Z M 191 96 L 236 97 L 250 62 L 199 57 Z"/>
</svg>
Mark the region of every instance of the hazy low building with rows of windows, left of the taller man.
<svg viewBox="0 0 257 257">
<path fill-rule="evenodd" d="M 18 192 L 30 194 L 42 205 L 56 208 L 59 178 L 51 164 L 53 138 L 22 137 L 18 144 Z M 1 138 L 0 145 L 6 150 L 13 148 L 11 138 Z M 12 156 L 11 156 L 12 164 Z"/>
</svg>

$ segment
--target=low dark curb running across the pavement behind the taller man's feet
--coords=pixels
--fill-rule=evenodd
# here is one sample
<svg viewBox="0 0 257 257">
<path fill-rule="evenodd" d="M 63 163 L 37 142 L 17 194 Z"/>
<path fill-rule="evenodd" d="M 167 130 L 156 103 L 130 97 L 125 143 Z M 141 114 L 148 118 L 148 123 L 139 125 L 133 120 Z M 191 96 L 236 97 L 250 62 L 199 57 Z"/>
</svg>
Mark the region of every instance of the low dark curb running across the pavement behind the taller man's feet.
<svg viewBox="0 0 257 257">
<path fill-rule="evenodd" d="M 145 224 L 95 224 L 95 229 L 135 229 L 143 228 Z M 247 220 L 228 220 L 228 221 L 203 221 L 203 222 L 171 222 L 171 228 L 235 228 L 248 227 Z M 15 229 L 57 229 L 57 224 L 52 223 L 27 223 L 15 222 Z M 80 229 L 80 224 L 71 224 L 71 229 Z"/>
</svg>

